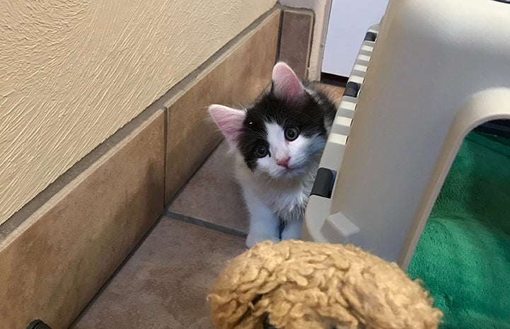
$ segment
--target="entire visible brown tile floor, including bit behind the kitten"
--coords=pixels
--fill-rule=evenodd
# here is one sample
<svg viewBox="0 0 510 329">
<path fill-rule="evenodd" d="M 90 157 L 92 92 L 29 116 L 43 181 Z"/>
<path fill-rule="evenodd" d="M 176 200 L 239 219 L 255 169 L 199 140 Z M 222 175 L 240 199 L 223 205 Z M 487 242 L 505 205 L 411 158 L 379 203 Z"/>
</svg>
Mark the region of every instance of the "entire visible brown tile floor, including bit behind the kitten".
<svg viewBox="0 0 510 329">
<path fill-rule="evenodd" d="M 343 88 L 323 86 L 335 101 Z M 211 329 L 207 294 L 245 250 L 248 216 L 222 142 L 70 329 Z"/>
</svg>

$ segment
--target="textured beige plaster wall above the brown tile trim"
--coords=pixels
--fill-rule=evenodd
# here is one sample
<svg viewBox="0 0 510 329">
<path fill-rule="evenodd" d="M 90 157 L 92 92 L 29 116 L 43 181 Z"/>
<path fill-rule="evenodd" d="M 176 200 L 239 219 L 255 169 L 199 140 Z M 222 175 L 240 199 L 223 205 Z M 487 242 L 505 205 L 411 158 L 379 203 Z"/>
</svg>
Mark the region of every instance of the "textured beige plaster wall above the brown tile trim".
<svg viewBox="0 0 510 329">
<path fill-rule="evenodd" d="M 0 224 L 276 0 L 0 0 Z"/>
</svg>

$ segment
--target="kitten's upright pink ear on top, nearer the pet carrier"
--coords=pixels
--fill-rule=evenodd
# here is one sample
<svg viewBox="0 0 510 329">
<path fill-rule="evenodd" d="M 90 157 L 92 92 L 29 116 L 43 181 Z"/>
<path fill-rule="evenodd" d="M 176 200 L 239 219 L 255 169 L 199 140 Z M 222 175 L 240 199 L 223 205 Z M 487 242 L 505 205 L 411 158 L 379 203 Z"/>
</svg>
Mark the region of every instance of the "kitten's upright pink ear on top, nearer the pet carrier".
<svg viewBox="0 0 510 329">
<path fill-rule="evenodd" d="M 305 93 L 303 83 L 299 81 L 298 76 L 289 65 L 284 62 L 278 62 L 274 65 L 272 81 L 272 91 L 277 98 L 299 101 Z"/>
</svg>

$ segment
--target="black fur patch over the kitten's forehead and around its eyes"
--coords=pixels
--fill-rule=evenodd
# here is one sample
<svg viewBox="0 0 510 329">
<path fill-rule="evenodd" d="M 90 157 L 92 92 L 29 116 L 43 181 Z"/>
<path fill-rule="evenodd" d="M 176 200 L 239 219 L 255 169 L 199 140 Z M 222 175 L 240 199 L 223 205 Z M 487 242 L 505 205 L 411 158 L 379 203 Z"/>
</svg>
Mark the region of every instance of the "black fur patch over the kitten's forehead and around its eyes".
<svg viewBox="0 0 510 329">
<path fill-rule="evenodd" d="M 296 103 L 281 100 L 272 92 L 266 93 L 248 108 L 238 139 L 238 148 L 246 165 L 253 171 L 257 166 L 257 145 L 264 144 L 267 148 L 270 146 L 265 123 L 274 122 L 284 129 L 296 127 L 305 137 L 318 134 L 327 138 L 325 118 L 332 122 L 335 112 L 335 105 L 323 93 L 315 92 L 315 97 L 304 93 L 302 100 Z"/>
</svg>

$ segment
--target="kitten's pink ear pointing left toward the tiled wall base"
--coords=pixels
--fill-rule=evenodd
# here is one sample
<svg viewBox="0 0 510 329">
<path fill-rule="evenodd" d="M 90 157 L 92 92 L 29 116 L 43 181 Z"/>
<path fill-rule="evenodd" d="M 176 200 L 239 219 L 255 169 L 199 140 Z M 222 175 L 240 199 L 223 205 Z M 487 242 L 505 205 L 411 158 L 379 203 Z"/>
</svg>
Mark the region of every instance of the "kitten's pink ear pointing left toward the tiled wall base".
<svg viewBox="0 0 510 329">
<path fill-rule="evenodd" d="M 246 111 L 228 108 L 224 105 L 209 106 L 209 114 L 216 125 L 221 129 L 228 144 L 235 147 L 243 127 L 243 121 L 246 117 Z"/>
</svg>

